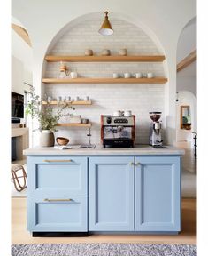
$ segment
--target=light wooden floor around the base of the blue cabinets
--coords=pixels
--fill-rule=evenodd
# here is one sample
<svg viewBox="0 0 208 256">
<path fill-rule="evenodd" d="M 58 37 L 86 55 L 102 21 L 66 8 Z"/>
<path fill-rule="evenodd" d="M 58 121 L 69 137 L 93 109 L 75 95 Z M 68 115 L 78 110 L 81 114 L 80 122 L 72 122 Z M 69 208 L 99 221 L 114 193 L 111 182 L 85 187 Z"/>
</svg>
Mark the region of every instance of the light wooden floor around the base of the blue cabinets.
<svg viewBox="0 0 208 256">
<path fill-rule="evenodd" d="M 88 237 L 32 237 L 26 229 L 26 198 L 12 198 L 12 244 L 42 243 L 168 243 L 196 244 L 196 199 L 182 199 L 182 231 L 173 236 L 92 235 Z"/>
</svg>

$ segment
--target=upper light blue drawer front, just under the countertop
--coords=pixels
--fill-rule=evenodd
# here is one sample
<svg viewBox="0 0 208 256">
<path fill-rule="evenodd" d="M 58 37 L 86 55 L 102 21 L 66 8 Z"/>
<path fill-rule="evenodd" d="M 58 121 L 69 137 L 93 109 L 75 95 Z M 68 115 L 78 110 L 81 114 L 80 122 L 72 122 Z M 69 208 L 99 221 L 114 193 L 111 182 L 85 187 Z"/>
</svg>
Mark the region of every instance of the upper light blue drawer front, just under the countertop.
<svg viewBox="0 0 208 256">
<path fill-rule="evenodd" d="M 28 157 L 28 196 L 87 196 L 87 157 Z"/>
</svg>

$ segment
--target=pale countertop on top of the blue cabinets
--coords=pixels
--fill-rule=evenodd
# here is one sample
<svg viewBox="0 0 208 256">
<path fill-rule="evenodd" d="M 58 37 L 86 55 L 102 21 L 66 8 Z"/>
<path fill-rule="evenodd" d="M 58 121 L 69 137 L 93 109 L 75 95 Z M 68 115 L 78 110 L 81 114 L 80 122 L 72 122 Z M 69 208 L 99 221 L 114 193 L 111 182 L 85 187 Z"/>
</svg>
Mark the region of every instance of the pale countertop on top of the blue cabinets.
<svg viewBox="0 0 208 256">
<path fill-rule="evenodd" d="M 167 148 L 152 148 L 149 145 L 135 145 L 135 148 L 104 148 L 97 144 L 96 148 L 79 148 L 80 145 L 71 145 L 71 149 L 57 149 L 53 147 L 35 147 L 27 148 L 23 151 L 24 155 L 82 155 L 82 156 L 99 156 L 99 155 L 184 155 L 185 151 L 181 148 L 166 146 Z"/>
</svg>

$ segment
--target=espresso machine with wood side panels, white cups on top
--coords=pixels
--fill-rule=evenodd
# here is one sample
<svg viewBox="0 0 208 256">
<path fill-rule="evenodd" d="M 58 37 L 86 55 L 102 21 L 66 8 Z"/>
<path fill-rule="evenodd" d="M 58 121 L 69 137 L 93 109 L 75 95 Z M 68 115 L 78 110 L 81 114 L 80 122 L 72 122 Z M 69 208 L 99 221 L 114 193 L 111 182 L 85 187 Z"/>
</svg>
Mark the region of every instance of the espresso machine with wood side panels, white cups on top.
<svg viewBox="0 0 208 256">
<path fill-rule="evenodd" d="M 101 141 L 104 148 L 133 148 L 135 145 L 135 116 L 102 115 Z"/>
</svg>

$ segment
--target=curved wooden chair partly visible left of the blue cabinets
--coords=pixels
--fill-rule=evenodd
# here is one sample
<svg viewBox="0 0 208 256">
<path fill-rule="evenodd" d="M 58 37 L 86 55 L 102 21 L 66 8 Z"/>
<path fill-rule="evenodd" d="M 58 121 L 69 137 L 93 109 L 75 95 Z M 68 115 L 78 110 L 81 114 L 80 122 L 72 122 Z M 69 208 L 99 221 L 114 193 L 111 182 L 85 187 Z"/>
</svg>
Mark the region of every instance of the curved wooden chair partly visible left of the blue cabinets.
<svg viewBox="0 0 208 256">
<path fill-rule="evenodd" d="M 14 183 L 14 188 L 19 192 L 27 188 L 27 173 L 24 167 L 20 164 L 12 164 L 11 172 L 12 172 L 12 182 Z M 21 184 L 19 178 L 23 178 L 23 184 Z"/>
</svg>

